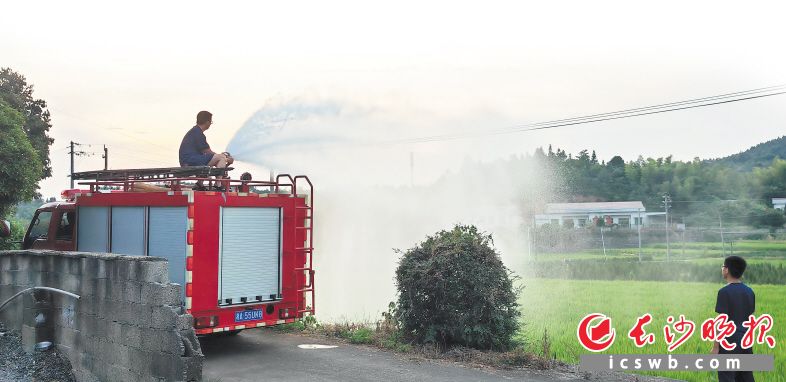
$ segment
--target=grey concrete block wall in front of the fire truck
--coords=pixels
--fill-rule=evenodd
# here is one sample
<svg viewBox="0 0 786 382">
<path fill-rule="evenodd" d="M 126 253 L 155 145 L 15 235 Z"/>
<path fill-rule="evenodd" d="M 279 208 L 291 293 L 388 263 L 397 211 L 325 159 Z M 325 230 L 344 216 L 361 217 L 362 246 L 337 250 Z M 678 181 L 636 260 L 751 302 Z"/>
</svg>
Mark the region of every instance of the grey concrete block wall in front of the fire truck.
<svg viewBox="0 0 786 382">
<path fill-rule="evenodd" d="M 20 330 L 26 347 L 51 337 L 79 381 L 199 380 L 193 318 L 167 267 L 158 257 L 0 251 L 0 303 L 33 286 L 81 296 L 28 293 L 0 311 L 0 321 Z"/>
</svg>

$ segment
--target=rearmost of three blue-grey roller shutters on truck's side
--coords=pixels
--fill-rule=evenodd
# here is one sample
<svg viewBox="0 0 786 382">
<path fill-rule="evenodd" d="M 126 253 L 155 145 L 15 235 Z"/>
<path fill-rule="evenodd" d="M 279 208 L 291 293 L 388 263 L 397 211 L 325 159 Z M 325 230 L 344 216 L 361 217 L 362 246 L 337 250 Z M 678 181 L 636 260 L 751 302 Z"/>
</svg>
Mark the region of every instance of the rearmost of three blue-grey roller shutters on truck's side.
<svg viewBox="0 0 786 382">
<path fill-rule="evenodd" d="M 169 260 L 169 281 L 185 293 L 187 207 L 150 207 L 149 213 L 147 254 Z"/>
</svg>

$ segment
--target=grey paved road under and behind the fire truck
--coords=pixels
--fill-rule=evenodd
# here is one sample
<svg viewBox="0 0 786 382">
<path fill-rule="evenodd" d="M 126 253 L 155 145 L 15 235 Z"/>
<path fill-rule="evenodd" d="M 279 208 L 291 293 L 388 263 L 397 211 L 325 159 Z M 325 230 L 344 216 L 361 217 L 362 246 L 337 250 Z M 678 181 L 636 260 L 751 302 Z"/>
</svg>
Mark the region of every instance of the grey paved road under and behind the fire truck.
<svg viewBox="0 0 786 382">
<path fill-rule="evenodd" d="M 206 357 L 203 376 L 208 382 L 586 381 L 574 373 L 471 368 L 274 330 L 248 330 L 235 337 L 203 338 L 200 342 Z M 308 349 L 313 347 L 308 345 L 335 347 Z M 619 376 L 611 380 L 634 378 Z"/>
</svg>

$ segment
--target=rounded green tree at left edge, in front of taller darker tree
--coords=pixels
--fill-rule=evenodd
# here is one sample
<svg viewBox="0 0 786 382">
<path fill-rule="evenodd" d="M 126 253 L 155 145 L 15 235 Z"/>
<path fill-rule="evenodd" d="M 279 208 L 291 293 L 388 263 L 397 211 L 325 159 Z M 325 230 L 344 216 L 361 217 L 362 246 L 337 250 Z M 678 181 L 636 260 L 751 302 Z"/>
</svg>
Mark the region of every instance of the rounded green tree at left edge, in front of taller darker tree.
<svg viewBox="0 0 786 382">
<path fill-rule="evenodd" d="M 0 216 L 36 196 L 42 165 L 22 126 L 24 116 L 0 100 Z"/>
</svg>

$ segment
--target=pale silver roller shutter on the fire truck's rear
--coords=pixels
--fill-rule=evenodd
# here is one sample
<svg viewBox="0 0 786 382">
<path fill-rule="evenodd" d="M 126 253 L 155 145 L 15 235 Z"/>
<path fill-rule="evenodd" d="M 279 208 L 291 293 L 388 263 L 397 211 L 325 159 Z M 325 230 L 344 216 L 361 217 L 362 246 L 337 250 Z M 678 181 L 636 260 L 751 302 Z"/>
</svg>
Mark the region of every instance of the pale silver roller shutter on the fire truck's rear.
<svg viewBox="0 0 786 382">
<path fill-rule="evenodd" d="M 280 299 L 280 208 L 223 207 L 219 246 L 221 305 Z"/>
</svg>

